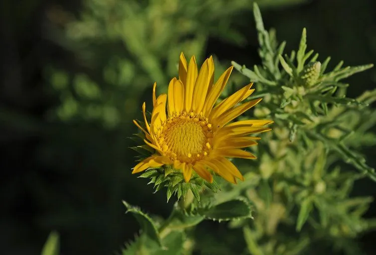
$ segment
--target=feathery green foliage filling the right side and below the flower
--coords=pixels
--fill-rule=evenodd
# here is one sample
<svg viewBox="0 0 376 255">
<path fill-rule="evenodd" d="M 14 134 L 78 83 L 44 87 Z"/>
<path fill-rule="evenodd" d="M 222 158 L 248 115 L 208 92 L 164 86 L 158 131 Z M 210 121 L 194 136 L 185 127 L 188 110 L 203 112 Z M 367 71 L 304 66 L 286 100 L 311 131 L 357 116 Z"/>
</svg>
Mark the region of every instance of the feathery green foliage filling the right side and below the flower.
<svg viewBox="0 0 376 255">
<path fill-rule="evenodd" d="M 230 221 L 230 228 L 242 231 L 244 253 L 254 255 L 317 254 L 318 242 L 329 244 L 332 250 L 360 254 L 355 238 L 376 227 L 375 219 L 362 217 L 372 198 L 350 196 L 356 180 L 369 177 L 376 181 L 375 170 L 359 151 L 376 141 L 369 130 L 375 126 L 376 115 L 368 107 L 376 100 L 376 90 L 351 99 L 346 97 L 349 85 L 342 83 L 373 65 L 343 68 L 340 62 L 328 72 L 330 58 L 321 63 L 313 50 L 307 52 L 306 29 L 298 50 L 283 54 L 286 43 L 278 44 L 275 31 L 265 30 L 256 4 L 254 16 L 262 65 L 251 70 L 232 64 L 255 82 L 255 97 L 264 98 L 254 115 L 275 121 L 274 131 L 263 137 L 256 151 L 259 160 L 252 166 L 256 170 L 249 172 L 250 164 L 239 160 L 242 170 L 247 171 L 243 183 L 218 180 L 220 191 L 205 190 L 199 195 L 187 189 L 184 200 L 176 203 L 159 229 L 147 228 L 158 226 L 158 222 L 152 224 L 149 216 L 137 211 L 147 223 L 140 222 L 141 236 L 123 254 L 144 251 L 147 245 L 140 245 L 144 236 L 151 240 L 159 236 L 162 245 L 158 249 L 168 251 L 163 240 L 175 232 L 187 235 L 189 245 L 176 243 L 181 244 L 182 254 L 190 254 L 194 245 L 209 246 L 205 241 L 212 241 L 194 239 L 197 234 L 189 236 L 189 229 L 204 219 Z M 358 172 L 341 170 L 341 162 Z M 172 182 L 164 178 L 166 169 L 150 169 L 143 175 L 152 177 L 157 186 L 166 182 L 169 187 Z M 168 189 L 168 199 L 171 194 Z M 149 249 L 146 254 L 158 249 Z"/>
</svg>

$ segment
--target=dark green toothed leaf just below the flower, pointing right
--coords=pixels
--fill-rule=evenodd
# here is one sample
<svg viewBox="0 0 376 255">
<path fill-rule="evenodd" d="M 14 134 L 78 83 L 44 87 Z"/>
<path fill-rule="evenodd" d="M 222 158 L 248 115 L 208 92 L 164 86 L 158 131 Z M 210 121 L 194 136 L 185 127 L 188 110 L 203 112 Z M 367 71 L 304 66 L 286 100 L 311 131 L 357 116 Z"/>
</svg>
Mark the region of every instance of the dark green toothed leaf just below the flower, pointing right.
<svg viewBox="0 0 376 255">
<path fill-rule="evenodd" d="M 252 218 L 251 207 L 245 199 L 235 199 L 208 208 L 198 208 L 197 212 L 207 219 L 217 221 Z"/>
</svg>

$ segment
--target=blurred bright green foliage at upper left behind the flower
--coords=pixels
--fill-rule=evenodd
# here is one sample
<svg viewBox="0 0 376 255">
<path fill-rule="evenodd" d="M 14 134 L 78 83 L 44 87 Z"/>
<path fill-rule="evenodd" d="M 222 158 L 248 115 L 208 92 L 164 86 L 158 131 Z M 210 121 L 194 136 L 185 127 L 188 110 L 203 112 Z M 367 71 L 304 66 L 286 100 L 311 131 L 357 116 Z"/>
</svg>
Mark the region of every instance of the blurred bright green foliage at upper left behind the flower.
<svg viewBox="0 0 376 255">
<path fill-rule="evenodd" d="M 105 128 L 119 127 L 122 120 L 136 113 L 138 99 L 154 81 L 159 90 L 166 90 L 183 49 L 200 60 L 209 35 L 244 44 L 244 36 L 231 24 L 253 1 L 85 0 L 78 19 L 52 9 L 56 27 L 61 22 L 64 25 L 61 33 L 55 32 L 54 40 L 75 52 L 80 72 L 74 73 L 71 67 L 46 69 L 61 101 L 49 118 L 64 122 L 82 118 Z M 260 3 L 270 6 L 299 1 L 303 0 Z"/>
</svg>

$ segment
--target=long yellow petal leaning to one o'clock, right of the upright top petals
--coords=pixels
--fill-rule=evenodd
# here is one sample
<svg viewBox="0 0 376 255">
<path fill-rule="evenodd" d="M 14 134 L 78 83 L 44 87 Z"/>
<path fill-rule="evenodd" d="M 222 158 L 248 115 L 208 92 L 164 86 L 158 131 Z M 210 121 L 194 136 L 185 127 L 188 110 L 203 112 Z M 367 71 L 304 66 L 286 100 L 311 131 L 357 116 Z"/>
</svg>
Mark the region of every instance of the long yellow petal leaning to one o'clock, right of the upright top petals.
<svg viewBox="0 0 376 255">
<path fill-rule="evenodd" d="M 203 107 L 204 116 L 209 116 L 211 109 L 213 108 L 215 101 L 217 101 L 219 95 L 222 93 L 228 78 L 232 72 L 233 66 L 230 66 L 224 73 L 219 77 L 218 81 L 210 88 L 209 93 L 206 96 L 205 104 Z"/>
</svg>

